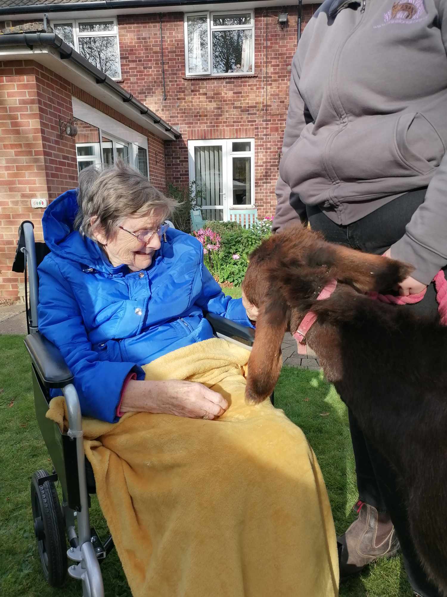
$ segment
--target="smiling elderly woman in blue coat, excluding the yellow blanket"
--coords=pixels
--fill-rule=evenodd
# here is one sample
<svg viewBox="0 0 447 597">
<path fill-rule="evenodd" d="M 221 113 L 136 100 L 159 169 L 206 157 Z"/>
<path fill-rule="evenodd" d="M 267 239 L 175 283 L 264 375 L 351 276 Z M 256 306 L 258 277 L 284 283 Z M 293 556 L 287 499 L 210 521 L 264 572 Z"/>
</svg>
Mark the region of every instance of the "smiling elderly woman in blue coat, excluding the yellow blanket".
<svg viewBox="0 0 447 597">
<path fill-rule="evenodd" d="M 212 419 L 228 407 L 202 384 L 145 381 L 140 366 L 212 338 L 204 310 L 250 325 L 241 300 L 225 297 L 204 267 L 197 240 L 163 224 L 175 205 L 117 164 L 86 168 L 79 192 L 45 211 L 51 254 L 39 267 L 39 330 L 63 353 L 84 415 Z"/>
</svg>

